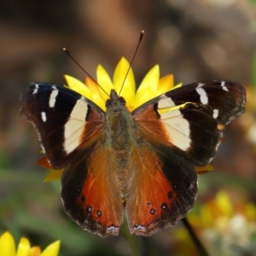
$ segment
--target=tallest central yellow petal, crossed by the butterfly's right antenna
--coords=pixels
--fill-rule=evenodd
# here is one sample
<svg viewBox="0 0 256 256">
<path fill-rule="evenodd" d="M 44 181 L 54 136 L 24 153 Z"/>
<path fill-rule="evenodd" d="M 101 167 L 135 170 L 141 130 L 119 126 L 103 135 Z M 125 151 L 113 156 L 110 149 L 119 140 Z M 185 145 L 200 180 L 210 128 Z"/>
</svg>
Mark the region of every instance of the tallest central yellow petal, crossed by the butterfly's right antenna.
<svg viewBox="0 0 256 256">
<path fill-rule="evenodd" d="M 128 72 L 129 67 L 130 63 L 123 57 L 119 61 L 113 73 L 113 87 L 118 94 L 120 93 L 121 87 L 124 84 L 120 96 L 125 98 L 127 108 L 129 108 L 129 106 L 133 106 L 136 90 L 132 69 L 130 69 L 125 79 L 125 75 Z"/>
</svg>

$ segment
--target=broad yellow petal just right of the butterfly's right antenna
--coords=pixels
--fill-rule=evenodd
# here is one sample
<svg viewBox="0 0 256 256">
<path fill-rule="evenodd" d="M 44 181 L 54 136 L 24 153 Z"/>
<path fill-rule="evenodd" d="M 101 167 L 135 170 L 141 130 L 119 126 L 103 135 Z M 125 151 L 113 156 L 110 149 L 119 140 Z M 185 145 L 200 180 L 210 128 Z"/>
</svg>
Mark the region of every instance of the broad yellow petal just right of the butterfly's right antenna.
<svg viewBox="0 0 256 256">
<path fill-rule="evenodd" d="M 152 67 L 143 79 L 142 84 L 137 89 L 135 108 L 156 96 L 159 84 L 160 69 L 158 65 Z"/>
</svg>

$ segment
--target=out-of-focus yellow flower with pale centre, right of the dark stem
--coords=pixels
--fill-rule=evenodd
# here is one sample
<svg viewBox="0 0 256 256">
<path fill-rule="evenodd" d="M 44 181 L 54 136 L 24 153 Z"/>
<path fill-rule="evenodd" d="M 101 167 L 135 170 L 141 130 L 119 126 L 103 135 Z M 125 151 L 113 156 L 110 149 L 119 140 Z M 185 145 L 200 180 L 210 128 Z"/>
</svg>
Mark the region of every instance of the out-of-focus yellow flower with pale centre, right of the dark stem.
<svg viewBox="0 0 256 256">
<path fill-rule="evenodd" d="M 240 247 L 241 254 L 249 254 L 250 248 L 253 250 L 256 241 L 256 206 L 251 202 L 237 200 L 237 197 L 232 200 L 227 192 L 220 190 L 215 198 L 199 208 L 199 212 L 190 212 L 188 218 L 212 255 L 233 255 L 234 245 Z M 177 230 L 175 236 L 177 247 L 184 253 L 182 245 L 184 240 L 189 240 L 188 234 L 184 230 Z"/>
</svg>

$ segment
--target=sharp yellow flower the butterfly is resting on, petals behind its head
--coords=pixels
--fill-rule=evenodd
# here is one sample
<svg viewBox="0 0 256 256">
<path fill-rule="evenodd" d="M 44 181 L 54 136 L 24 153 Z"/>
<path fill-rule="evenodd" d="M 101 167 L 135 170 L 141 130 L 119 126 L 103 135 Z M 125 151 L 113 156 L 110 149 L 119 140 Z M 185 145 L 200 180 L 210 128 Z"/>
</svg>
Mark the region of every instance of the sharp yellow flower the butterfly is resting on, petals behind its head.
<svg viewBox="0 0 256 256">
<path fill-rule="evenodd" d="M 182 84 L 177 84 L 174 86 L 172 74 L 166 75 L 160 79 L 160 67 L 159 65 L 155 65 L 148 71 L 142 83 L 136 90 L 136 83 L 132 69 L 130 69 L 125 79 L 125 75 L 129 70 L 129 67 L 130 63 L 123 57 L 113 72 L 113 79 L 111 79 L 107 71 L 101 65 L 99 65 L 96 69 L 96 82 L 93 79 L 86 78 L 83 83 L 78 79 L 65 75 L 64 77 L 67 81 L 67 85 L 65 86 L 71 90 L 77 91 L 90 101 L 95 102 L 96 105 L 99 108 L 102 108 L 103 111 L 106 110 L 105 102 L 108 100 L 110 90 L 112 89 L 114 89 L 118 94 L 120 93 L 120 96 L 125 98 L 126 107 L 130 111 L 133 111 L 154 97 L 160 96 L 166 91 L 182 86 Z M 102 87 L 102 89 L 98 86 L 98 84 Z M 103 90 L 107 92 L 107 94 Z M 38 165 L 50 168 L 45 158 L 39 160 Z M 201 167 L 199 170 L 197 170 L 197 172 L 202 173 L 212 169 L 212 166 L 207 165 Z M 48 176 L 45 178 L 45 181 L 60 179 L 62 172 L 62 170 L 51 170 Z"/>
</svg>

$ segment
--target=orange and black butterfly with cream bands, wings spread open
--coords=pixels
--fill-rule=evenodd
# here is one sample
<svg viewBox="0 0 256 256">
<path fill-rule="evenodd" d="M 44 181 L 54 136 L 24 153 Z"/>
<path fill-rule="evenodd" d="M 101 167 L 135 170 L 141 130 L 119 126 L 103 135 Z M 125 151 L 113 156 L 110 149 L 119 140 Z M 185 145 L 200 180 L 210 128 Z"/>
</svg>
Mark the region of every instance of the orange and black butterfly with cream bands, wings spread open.
<svg viewBox="0 0 256 256">
<path fill-rule="evenodd" d="M 66 87 L 32 83 L 20 113 L 38 131 L 50 166 L 64 168 L 61 198 L 84 230 L 151 236 L 176 224 L 197 195 L 227 125 L 244 112 L 245 89 L 229 80 L 181 86 L 132 112 L 111 90 L 103 111 Z"/>
</svg>

